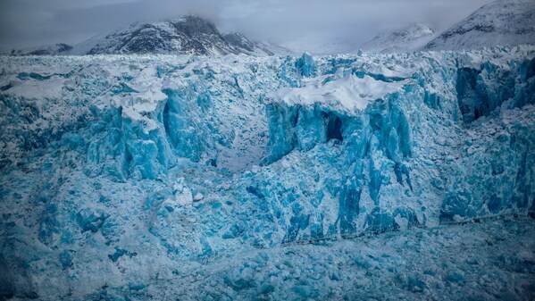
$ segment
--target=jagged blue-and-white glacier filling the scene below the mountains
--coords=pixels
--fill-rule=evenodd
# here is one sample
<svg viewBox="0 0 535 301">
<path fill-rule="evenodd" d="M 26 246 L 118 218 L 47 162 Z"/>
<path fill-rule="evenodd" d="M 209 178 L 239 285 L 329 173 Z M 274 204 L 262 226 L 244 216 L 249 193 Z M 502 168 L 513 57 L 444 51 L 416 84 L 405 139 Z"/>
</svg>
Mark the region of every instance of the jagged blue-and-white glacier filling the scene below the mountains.
<svg viewBox="0 0 535 301">
<path fill-rule="evenodd" d="M 2 297 L 535 294 L 533 46 L 0 62 Z"/>
</svg>

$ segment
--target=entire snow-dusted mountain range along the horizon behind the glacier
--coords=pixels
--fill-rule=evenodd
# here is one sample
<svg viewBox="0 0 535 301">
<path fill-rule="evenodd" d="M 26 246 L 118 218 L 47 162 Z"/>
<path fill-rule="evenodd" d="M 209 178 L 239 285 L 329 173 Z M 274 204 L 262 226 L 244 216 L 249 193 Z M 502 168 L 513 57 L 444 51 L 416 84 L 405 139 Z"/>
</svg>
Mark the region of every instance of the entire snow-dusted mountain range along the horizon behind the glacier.
<svg viewBox="0 0 535 301">
<path fill-rule="evenodd" d="M 497 0 L 481 6 L 461 21 L 438 31 L 425 23 L 411 23 L 381 33 L 360 47 L 326 44 L 313 54 L 403 53 L 421 50 L 469 50 L 485 46 L 535 43 L 535 2 Z M 128 28 L 89 38 L 77 45 L 63 43 L 13 50 L 11 55 L 84 54 L 296 54 L 272 43 L 249 40 L 239 32 L 220 32 L 211 21 L 185 15 L 165 21 L 137 22 Z"/>
</svg>

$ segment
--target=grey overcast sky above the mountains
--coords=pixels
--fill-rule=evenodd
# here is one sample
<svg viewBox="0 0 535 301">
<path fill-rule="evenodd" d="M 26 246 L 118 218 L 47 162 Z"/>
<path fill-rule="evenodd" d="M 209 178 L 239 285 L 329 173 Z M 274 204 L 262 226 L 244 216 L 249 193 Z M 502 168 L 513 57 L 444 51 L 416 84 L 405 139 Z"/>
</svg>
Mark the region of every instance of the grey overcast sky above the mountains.
<svg viewBox="0 0 535 301">
<path fill-rule="evenodd" d="M 187 13 L 295 50 L 358 46 L 411 22 L 445 29 L 490 0 L 0 0 L 0 49 L 76 44 Z"/>
</svg>

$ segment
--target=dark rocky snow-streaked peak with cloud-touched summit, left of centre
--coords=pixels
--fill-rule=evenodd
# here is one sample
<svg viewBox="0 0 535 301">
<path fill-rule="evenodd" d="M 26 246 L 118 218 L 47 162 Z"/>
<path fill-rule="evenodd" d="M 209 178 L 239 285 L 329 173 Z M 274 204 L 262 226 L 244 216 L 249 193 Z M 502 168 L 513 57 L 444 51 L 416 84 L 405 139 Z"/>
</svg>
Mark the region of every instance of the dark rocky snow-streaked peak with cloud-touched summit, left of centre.
<svg viewBox="0 0 535 301">
<path fill-rule="evenodd" d="M 188 15 L 143 22 L 74 46 L 71 54 L 272 54 L 239 33 L 222 34 L 211 21 Z"/>
</svg>

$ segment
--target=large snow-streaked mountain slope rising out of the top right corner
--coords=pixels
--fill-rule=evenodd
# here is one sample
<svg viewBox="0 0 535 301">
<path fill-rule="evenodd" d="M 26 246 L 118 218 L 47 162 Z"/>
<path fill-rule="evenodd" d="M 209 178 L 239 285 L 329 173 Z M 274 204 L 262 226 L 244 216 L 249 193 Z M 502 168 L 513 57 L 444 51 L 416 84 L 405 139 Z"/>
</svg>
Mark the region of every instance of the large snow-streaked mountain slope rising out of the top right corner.
<svg viewBox="0 0 535 301">
<path fill-rule="evenodd" d="M 443 31 L 424 49 L 460 50 L 532 43 L 535 43 L 535 1 L 497 0 Z"/>
</svg>

